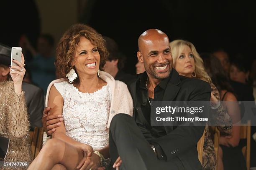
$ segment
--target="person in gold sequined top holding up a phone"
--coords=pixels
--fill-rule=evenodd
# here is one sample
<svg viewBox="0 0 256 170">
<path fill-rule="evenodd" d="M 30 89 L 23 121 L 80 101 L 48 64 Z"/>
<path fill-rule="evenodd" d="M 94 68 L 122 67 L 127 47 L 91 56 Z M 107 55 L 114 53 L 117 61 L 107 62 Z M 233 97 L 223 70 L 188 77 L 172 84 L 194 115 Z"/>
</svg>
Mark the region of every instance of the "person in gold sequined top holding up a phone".
<svg viewBox="0 0 256 170">
<path fill-rule="evenodd" d="M 3 50 L 5 49 L 0 49 L 1 52 Z M 18 65 L 9 66 L 14 69 L 13 71 L 6 69 L 3 62 L 8 62 L 10 65 L 10 57 L 0 54 L 0 136 L 10 141 L 4 161 L 31 162 L 28 112 L 25 92 L 22 91 L 22 81 L 26 72 L 24 57 L 22 54 L 21 62 L 13 60 Z M 9 71 L 12 80 L 5 79 Z"/>
</svg>

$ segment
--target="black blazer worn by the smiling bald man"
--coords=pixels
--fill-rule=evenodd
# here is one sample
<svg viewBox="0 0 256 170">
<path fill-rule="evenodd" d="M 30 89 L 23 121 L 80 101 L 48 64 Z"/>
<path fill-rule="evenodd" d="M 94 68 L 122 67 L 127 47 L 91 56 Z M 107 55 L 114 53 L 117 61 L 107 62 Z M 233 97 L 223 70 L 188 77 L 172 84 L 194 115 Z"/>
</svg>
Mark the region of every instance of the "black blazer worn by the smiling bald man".
<svg viewBox="0 0 256 170">
<path fill-rule="evenodd" d="M 128 85 L 133 98 L 134 114 L 141 114 L 141 101 L 137 101 L 136 84 L 143 73 L 138 75 L 136 81 Z M 211 87 L 209 83 L 195 78 L 188 78 L 178 74 L 172 69 L 170 79 L 165 89 L 163 101 L 209 101 Z M 150 113 L 148 113 L 150 114 Z M 164 126 L 165 136 L 156 139 L 164 151 L 167 161 L 181 161 L 187 170 L 202 169 L 198 160 L 197 142 L 200 140 L 205 126 Z M 178 158 L 178 159 L 177 159 Z"/>
</svg>

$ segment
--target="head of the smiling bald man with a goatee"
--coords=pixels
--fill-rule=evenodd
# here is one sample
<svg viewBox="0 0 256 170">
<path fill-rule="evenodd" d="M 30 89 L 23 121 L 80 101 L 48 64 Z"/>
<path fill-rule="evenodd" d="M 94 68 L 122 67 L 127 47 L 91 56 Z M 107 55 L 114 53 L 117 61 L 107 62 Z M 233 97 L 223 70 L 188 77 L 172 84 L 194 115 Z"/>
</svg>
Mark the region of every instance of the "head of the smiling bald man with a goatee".
<svg viewBox="0 0 256 170">
<path fill-rule="evenodd" d="M 172 70 L 172 54 L 168 36 L 157 29 L 146 30 L 138 38 L 137 57 L 144 63 L 148 77 L 164 79 Z"/>
</svg>

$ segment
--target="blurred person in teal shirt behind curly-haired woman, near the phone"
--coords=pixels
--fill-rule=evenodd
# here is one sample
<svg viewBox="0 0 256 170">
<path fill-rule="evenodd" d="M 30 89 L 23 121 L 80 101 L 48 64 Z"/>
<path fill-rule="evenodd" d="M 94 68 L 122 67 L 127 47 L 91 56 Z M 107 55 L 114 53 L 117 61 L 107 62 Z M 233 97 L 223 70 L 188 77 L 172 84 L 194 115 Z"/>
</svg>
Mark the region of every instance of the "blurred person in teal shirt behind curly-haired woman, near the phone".
<svg viewBox="0 0 256 170">
<path fill-rule="evenodd" d="M 32 82 L 41 87 L 46 95 L 49 83 L 56 78 L 54 66 L 54 38 L 49 34 L 41 34 L 38 38 L 37 50 L 28 39 L 25 39 L 26 48 L 32 53 L 33 59 L 28 63 Z"/>
</svg>

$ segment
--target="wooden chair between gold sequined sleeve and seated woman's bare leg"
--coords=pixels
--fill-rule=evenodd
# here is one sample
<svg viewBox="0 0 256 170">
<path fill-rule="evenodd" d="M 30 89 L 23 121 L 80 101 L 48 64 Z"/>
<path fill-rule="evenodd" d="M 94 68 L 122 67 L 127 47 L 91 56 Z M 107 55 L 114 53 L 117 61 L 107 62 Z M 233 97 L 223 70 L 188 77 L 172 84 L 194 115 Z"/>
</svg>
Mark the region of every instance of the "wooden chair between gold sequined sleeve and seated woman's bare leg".
<svg viewBox="0 0 256 170">
<path fill-rule="evenodd" d="M 39 151 L 42 148 L 43 143 L 43 133 L 44 128 L 38 128 L 36 127 L 34 131 L 30 131 L 30 140 L 31 140 L 31 152 L 32 152 L 32 158 L 35 159 L 38 155 Z"/>
</svg>

